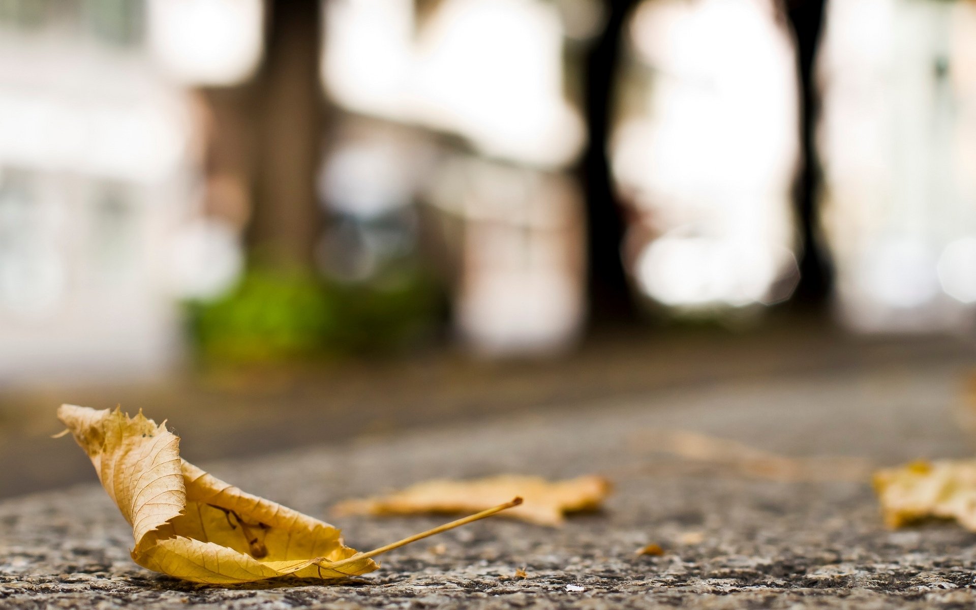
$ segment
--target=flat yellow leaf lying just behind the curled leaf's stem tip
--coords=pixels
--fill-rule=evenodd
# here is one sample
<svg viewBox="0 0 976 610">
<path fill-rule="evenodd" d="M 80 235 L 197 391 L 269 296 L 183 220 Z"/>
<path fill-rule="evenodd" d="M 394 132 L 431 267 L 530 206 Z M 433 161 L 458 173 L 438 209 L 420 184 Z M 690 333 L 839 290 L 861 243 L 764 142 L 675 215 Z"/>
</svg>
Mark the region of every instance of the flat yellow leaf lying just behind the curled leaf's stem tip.
<svg viewBox="0 0 976 610">
<path fill-rule="evenodd" d="M 564 513 L 599 508 L 609 493 L 610 483 L 595 475 L 550 482 L 539 476 L 502 474 L 467 481 L 426 481 L 388 496 L 349 500 L 333 510 L 340 515 L 469 512 L 494 506 L 498 498 L 515 495 L 525 502 L 506 511 L 506 515 L 539 525 L 559 526 L 565 521 Z"/>
</svg>

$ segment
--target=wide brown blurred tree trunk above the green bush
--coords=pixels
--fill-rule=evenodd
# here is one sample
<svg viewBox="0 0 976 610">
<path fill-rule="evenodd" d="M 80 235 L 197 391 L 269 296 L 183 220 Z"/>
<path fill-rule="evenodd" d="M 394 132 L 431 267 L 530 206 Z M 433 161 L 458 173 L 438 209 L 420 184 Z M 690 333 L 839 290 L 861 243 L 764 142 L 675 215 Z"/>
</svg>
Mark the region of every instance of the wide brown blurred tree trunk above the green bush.
<svg viewBox="0 0 976 610">
<path fill-rule="evenodd" d="M 319 2 L 276 0 L 267 3 L 267 11 L 249 246 L 263 264 L 310 265 L 321 228 L 315 196 L 324 107 Z"/>
</svg>

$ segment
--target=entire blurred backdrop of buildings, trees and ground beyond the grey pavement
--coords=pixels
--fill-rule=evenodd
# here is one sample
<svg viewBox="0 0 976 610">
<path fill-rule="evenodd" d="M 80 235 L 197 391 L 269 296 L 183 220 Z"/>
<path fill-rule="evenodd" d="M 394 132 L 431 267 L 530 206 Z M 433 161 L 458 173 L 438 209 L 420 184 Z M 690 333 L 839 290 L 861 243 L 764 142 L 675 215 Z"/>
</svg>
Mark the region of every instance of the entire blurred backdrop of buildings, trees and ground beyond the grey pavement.
<svg viewBox="0 0 976 610">
<path fill-rule="evenodd" d="M 0 496 L 61 402 L 206 459 L 974 316 L 971 2 L 0 0 Z"/>
</svg>

